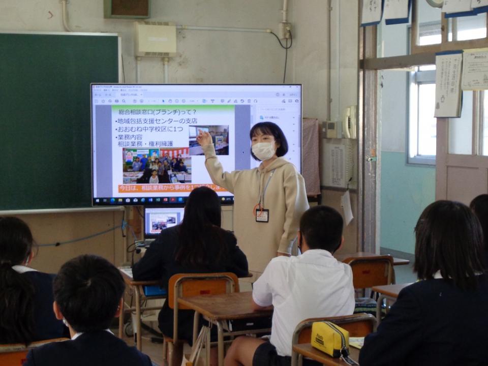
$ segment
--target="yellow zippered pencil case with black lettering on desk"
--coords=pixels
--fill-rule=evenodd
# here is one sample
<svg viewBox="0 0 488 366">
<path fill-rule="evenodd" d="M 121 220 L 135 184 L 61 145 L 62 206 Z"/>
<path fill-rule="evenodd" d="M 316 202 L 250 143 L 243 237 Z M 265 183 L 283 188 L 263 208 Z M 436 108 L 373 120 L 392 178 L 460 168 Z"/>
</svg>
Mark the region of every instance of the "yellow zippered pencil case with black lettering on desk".
<svg viewBox="0 0 488 366">
<path fill-rule="evenodd" d="M 334 358 L 349 354 L 349 332 L 331 322 L 312 324 L 312 347 Z"/>
</svg>

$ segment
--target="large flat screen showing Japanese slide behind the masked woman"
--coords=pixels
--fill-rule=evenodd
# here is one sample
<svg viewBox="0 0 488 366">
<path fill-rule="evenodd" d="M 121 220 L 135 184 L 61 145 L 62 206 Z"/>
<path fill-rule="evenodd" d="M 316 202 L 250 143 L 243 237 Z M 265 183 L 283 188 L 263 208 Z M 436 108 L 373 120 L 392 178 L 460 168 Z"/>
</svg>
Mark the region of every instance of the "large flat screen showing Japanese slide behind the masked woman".
<svg viewBox="0 0 488 366">
<path fill-rule="evenodd" d="M 92 84 L 93 204 L 184 204 L 212 184 L 196 137 L 209 132 L 224 170 L 257 167 L 249 131 L 283 130 L 285 159 L 301 169 L 301 85 Z M 156 173 L 154 172 L 156 170 Z"/>
</svg>

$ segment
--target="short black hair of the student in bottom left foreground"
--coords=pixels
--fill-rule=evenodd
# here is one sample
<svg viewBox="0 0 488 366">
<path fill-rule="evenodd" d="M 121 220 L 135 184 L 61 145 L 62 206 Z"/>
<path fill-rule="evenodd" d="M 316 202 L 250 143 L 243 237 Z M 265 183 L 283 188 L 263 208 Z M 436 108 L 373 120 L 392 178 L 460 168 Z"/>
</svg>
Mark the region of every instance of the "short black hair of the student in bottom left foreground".
<svg viewBox="0 0 488 366">
<path fill-rule="evenodd" d="M 63 264 L 53 282 L 54 301 L 76 332 L 107 329 L 124 289 L 120 271 L 108 260 L 90 254 Z"/>
</svg>

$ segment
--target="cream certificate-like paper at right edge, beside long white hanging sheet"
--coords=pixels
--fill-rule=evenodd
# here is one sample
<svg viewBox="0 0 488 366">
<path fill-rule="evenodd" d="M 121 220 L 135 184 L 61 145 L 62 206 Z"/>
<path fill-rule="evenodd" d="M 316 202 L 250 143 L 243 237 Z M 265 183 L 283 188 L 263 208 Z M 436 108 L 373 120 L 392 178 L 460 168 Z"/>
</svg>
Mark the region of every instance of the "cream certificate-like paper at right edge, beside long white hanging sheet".
<svg viewBox="0 0 488 366">
<path fill-rule="evenodd" d="M 463 54 L 463 90 L 488 89 L 488 49 Z"/>
</svg>

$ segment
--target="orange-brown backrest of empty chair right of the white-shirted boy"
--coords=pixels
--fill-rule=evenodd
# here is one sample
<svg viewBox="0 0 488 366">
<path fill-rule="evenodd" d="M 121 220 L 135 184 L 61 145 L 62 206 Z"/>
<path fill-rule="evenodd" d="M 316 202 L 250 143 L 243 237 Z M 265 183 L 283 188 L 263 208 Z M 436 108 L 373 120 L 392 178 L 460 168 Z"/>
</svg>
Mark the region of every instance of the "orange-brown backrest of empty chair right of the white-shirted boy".
<svg viewBox="0 0 488 366">
<path fill-rule="evenodd" d="M 344 263 L 348 263 L 352 268 L 352 283 L 355 289 L 395 283 L 393 257 L 389 254 L 348 258 Z"/>
</svg>

